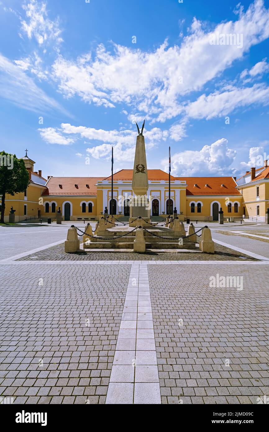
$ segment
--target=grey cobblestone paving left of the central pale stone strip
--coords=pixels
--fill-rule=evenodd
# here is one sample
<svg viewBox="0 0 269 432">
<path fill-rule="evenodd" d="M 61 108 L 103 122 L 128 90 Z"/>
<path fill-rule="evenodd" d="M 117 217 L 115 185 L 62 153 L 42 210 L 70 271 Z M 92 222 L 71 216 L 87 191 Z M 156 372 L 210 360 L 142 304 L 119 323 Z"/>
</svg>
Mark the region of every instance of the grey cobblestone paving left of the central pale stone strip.
<svg viewBox="0 0 269 432">
<path fill-rule="evenodd" d="M 104 403 L 130 268 L 1 264 L 0 394 Z"/>
</svg>

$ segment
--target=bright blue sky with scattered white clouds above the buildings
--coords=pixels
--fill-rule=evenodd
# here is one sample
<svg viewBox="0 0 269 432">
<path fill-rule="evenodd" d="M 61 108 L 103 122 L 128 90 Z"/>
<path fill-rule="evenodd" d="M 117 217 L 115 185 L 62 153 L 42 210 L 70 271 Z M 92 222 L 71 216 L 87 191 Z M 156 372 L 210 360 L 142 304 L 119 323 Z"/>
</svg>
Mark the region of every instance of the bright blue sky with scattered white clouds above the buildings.
<svg viewBox="0 0 269 432">
<path fill-rule="evenodd" d="M 0 34 L 1 147 L 44 176 L 133 168 L 144 118 L 148 168 L 269 155 L 269 0 L 0 0 Z"/>
</svg>

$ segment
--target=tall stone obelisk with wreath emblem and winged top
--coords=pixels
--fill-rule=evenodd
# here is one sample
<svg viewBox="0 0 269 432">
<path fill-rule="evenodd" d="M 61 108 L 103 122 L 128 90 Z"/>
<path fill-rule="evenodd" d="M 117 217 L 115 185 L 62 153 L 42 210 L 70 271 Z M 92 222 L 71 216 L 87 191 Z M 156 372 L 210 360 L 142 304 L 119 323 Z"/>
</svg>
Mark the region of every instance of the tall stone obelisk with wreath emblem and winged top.
<svg viewBox="0 0 269 432">
<path fill-rule="evenodd" d="M 130 219 L 129 225 L 136 226 L 135 219 L 141 216 L 146 222 L 150 222 L 150 206 L 148 202 L 147 192 L 149 188 L 147 160 L 146 160 L 146 149 L 145 149 L 145 138 L 143 137 L 143 129 L 140 133 L 139 127 L 137 126 L 139 135 L 136 137 L 136 152 L 133 164 L 133 200 L 130 204 Z M 135 222 L 134 222 L 135 221 Z M 141 221 L 141 225 L 146 223 Z"/>
</svg>

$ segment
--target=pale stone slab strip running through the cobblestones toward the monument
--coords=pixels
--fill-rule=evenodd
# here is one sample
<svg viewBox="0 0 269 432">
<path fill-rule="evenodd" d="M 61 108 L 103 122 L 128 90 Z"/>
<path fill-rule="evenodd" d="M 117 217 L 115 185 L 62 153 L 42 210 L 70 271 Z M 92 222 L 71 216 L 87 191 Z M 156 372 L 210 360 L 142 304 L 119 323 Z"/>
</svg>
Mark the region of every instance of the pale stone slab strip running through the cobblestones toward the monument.
<svg viewBox="0 0 269 432">
<path fill-rule="evenodd" d="M 161 403 L 147 263 L 131 268 L 106 403 Z"/>
</svg>

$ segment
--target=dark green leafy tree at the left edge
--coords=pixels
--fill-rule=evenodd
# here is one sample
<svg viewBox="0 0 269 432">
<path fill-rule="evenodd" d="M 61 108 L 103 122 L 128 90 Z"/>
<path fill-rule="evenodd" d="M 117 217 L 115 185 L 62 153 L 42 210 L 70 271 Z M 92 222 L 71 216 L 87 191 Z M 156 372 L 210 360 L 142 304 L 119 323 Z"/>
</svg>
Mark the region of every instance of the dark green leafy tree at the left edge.
<svg viewBox="0 0 269 432">
<path fill-rule="evenodd" d="M 24 192 L 29 183 L 28 171 L 23 160 L 18 159 L 16 155 L 0 152 L 1 223 L 4 222 L 6 194 Z"/>
</svg>

